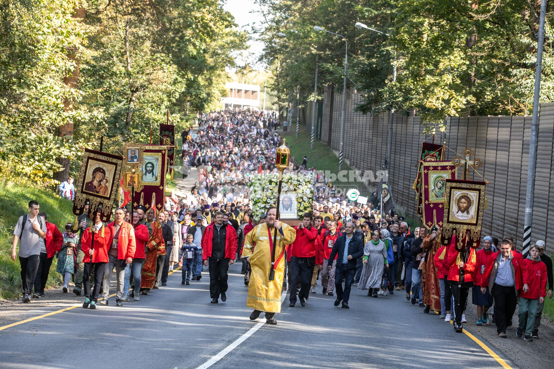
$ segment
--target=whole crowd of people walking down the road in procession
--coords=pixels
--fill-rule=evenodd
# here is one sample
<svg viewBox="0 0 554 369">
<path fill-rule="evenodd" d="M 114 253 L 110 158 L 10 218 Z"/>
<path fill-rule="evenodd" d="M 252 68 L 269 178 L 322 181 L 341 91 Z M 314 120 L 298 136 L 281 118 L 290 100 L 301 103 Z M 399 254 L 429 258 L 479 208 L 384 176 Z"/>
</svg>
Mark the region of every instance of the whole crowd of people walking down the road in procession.
<svg viewBox="0 0 554 369">
<path fill-rule="evenodd" d="M 497 334 L 506 337 L 517 304 L 516 335 L 527 341 L 538 338 L 544 299 L 552 298 L 553 289 L 552 261 L 544 253 L 543 241 L 525 256 L 508 236 L 501 241 L 484 237 L 479 250 L 469 247 L 469 236 L 443 246 L 440 228 L 412 230 L 398 214 L 381 216 L 377 193 L 368 204 L 351 204 L 336 185 L 308 167 L 306 157 L 301 164 L 293 160 L 291 169 L 314 174 L 312 211 L 303 214 L 295 227 L 281 224 L 271 207 L 261 219 L 254 219 L 247 185 L 253 173 L 275 171 L 275 149 L 281 144 L 279 134 L 272 132 L 275 119 L 249 111 L 200 116 L 198 130 L 182 135 L 183 162 L 197 167 L 198 180 L 184 198 L 168 196 L 165 210 L 158 214 L 141 205 L 132 214 L 119 208 L 114 221 L 104 224 L 99 213 L 89 219 L 85 205 L 83 215 L 66 224 L 62 234 L 39 212 L 36 201 L 29 202 L 29 213 L 20 217 L 14 230 L 12 248 L 16 260 L 20 241 L 23 302 L 45 296 L 54 256 L 63 292 L 68 292 L 73 279 L 73 293 L 84 295 L 83 307 L 89 309 L 109 304 L 114 270 L 115 302 L 121 306 L 166 285 L 168 273 L 179 266 L 183 285 L 200 280 L 208 267 L 211 303 L 225 302 L 229 264 L 240 261 L 253 320 L 265 312 L 266 321 L 276 324 L 280 304 L 273 300 L 280 299 L 264 295 L 275 292 L 274 284 L 289 290 L 293 308 L 297 301 L 306 306 L 310 294 L 317 293 L 319 280 L 321 293 L 336 294 L 335 306 L 350 308 L 352 287 L 367 290 L 372 298 L 405 293 L 406 300 L 423 308 L 423 313 L 437 311 L 461 332 L 471 289 L 477 325 L 492 321 Z M 183 173 L 187 175 L 189 171 Z M 69 199 L 74 195 L 65 185 L 60 191 Z M 253 269 L 266 273 L 256 257 L 262 248 L 254 246 L 268 243 L 268 250 L 273 248 L 267 236 L 273 228 L 281 233 L 279 243 L 288 242 L 275 245 L 283 251 L 283 259 L 276 261 L 283 270 L 275 269 L 278 282 L 269 282 L 270 288 L 268 282 L 253 282 Z M 260 303 L 265 300 L 272 303 Z"/>
</svg>

